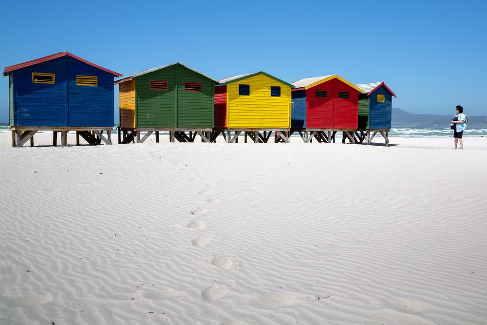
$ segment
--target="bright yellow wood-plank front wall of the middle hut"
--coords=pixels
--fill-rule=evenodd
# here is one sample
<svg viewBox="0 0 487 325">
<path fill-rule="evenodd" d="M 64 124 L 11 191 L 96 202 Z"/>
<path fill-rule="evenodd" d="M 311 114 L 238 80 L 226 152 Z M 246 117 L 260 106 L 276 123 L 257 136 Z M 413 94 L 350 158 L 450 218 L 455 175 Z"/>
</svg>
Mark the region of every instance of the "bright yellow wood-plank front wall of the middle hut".
<svg viewBox="0 0 487 325">
<path fill-rule="evenodd" d="M 239 95 L 239 84 L 250 85 L 250 96 Z M 271 97 L 271 86 L 281 87 L 281 97 Z M 265 75 L 227 85 L 229 128 L 283 128 L 291 126 L 291 87 Z"/>
</svg>

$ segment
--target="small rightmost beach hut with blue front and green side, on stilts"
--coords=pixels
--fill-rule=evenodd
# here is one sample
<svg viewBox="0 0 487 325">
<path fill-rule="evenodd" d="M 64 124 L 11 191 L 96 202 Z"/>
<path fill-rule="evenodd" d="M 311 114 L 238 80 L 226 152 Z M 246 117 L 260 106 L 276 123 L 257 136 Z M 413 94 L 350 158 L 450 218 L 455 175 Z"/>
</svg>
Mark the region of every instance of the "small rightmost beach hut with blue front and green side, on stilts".
<svg viewBox="0 0 487 325">
<path fill-rule="evenodd" d="M 367 137 L 370 144 L 375 134 L 380 133 L 389 144 L 389 130 L 391 129 L 393 91 L 382 82 L 364 83 L 356 85 L 364 91 L 358 96 L 358 134 L 360 142 Z M 397 98 L 397 97 L 396 97 Z M 371 131 L 374 132 L 372 137 Z"/>
</svg>

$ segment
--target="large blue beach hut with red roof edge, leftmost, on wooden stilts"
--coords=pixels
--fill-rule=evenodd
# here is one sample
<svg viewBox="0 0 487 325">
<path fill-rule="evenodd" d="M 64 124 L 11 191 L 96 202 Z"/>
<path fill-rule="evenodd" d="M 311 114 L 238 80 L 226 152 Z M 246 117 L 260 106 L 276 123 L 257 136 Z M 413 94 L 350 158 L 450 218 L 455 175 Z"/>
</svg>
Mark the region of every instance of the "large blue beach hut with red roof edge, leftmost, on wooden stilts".
<svg viewBox="0 0 487 325">
<path fill-rule="evenodd" d="M 122 76 L 69 52 L 6 67 L 12 145 L 21 147 L 37 131 L 57 132 L 66 145 L 68 131 L 90 144 L 110 144 L 113 128 L 113 78 Z M 106 131 L 108 138 L 103 135 Z"/>
</svg>

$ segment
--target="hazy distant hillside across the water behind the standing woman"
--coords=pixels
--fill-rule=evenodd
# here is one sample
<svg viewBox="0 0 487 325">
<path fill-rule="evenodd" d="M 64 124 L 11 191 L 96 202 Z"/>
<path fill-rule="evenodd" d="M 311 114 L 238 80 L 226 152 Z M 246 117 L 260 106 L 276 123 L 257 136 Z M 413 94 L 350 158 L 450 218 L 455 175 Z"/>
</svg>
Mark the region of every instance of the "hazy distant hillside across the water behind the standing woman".
<svg viewBox="0 0 487 325">
<path fill-rule="evenodd" d="M 403 111 L 400 108 L 393 108 L 392 126 L 393 128 L 448 127 L 452 117 L 453 114 L 413 114 Z M 468 126 L 475 129 L 487 128 L 487 116 L 468 115 Z"/>
</svg>

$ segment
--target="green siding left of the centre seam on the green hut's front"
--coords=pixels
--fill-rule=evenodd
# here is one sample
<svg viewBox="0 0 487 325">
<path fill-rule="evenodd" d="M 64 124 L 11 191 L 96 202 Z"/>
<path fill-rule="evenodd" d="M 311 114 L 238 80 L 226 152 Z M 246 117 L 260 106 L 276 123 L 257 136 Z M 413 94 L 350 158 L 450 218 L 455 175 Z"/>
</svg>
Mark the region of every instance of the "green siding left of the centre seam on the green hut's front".
<svg viewBox="0 0 487 325">
<path fill-rule="evenodd" d="M 135 78 L 137 128 L 176 127 L 176 67 L 171 65 Z M 150 80 L 167 81 L 168 90 L 150 89 Z"/>
</svg>

